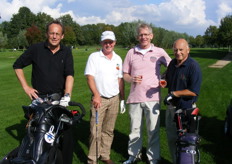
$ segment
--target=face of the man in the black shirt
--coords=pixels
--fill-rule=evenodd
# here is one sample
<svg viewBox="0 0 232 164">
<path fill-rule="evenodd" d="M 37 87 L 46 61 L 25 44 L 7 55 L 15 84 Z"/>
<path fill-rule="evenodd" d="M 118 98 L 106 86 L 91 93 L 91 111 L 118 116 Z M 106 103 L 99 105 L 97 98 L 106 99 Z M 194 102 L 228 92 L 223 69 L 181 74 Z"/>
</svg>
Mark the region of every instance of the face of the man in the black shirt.
<svg viewBox="0 0 232 164">
<path fill-rule="evenodd" d="M 62 27 L 58 24 L 51 24 L 46 34 L 49 44 L 52 47 L 58 47 L 60 41 L 64 38 Z"/>
</svg>

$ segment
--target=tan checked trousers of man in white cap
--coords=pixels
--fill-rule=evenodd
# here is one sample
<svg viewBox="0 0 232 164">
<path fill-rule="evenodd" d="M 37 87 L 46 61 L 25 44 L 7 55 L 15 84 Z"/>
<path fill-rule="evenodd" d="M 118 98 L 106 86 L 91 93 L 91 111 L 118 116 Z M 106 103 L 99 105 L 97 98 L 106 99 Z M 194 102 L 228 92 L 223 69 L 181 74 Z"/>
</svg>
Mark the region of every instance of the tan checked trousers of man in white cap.
<svg viewBox="0 0 232 164">
<path fill-rule="evenodd" d="M 118 95 L 110 99 L 102 98 L 102 106 L 98 109 L 98 125 L 96 125 L 96 109 L 91 106 L 88 164 L 96 164 L 97 158 L 110 159 L 118 108 Z"/>
</svg>

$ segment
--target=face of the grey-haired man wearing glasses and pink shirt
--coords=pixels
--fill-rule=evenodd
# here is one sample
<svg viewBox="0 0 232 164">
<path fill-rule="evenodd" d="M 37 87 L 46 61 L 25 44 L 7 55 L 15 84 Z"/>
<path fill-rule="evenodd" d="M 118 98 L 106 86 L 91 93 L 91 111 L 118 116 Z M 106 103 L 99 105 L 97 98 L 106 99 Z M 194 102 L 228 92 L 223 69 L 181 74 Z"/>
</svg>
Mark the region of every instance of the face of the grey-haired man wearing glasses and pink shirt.
<svg viewBox="0 0 232 164">
<path fill-rule="evenodd" d="M 153 38 L 153 34 L 150 33 L 148 28 L 140 28 L 139 35 L 137 37 L 140 44 L 140 48 L 142 49 L 149 48 L 152 38 Z"/>
</svg>

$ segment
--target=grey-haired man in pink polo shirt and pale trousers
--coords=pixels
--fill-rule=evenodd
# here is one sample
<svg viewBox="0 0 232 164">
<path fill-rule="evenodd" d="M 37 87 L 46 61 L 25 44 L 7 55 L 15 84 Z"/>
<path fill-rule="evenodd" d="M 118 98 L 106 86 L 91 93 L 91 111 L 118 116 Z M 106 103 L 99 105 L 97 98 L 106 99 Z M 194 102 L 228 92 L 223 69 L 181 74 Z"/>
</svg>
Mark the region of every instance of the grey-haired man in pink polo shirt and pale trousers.
<svg viewBox="0 0 232 164">
<path fill-rule="evenodd" d="M 140 24 L 137 28 L 139 45 L 130 49 L 123 64 L 124 80 L 131 83 L 127 99 L 131 118 L 129 134 L 129 159 L 123 164 L 131 164 L 140 158 L 142 149 L 143 116 L 146 118 L 148 133 L 147 158 L 150 164 L 160 159 L 160 68 L 168 66 L 171 58 L 164 49 L 154 46 L 152 28 Z"/>
</svg>

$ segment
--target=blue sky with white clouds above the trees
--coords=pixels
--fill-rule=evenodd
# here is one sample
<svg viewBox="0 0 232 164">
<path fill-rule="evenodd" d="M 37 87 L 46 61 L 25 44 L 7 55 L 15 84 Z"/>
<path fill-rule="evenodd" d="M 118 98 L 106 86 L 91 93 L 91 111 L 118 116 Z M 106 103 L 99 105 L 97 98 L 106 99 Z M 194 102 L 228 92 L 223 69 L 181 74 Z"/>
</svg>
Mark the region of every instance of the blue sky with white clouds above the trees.
<svg viewBox="0 0 232 164">
<path fill-rule="evenodd" d="M 0 0 L 0 23 L 10 21 L 23 6 L 53 18 L 70 14 L 79 25 L 143 20 L 194 37 L 232 15 L 232 0 Z"/>
</svg>

